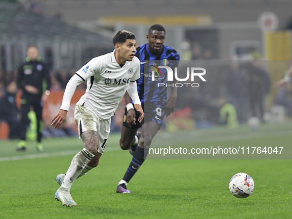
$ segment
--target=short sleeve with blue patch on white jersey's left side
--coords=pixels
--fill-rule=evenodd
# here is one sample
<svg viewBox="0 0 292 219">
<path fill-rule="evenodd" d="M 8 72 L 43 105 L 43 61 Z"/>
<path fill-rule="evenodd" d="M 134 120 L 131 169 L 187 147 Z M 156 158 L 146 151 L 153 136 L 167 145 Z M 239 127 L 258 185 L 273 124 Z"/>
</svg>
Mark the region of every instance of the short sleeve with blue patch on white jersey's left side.
<svg viewBox="0 0 292 219">
<path fill-rule="evenodd" d="M 81 69 L 79 69 L 76 74 L 86 81 L 94 74 L 100 73 L 100 69 L 102 66 L 102 58 L 96 57 L 91 59 L 86 65 L 84 65 Z"/>
</svg>

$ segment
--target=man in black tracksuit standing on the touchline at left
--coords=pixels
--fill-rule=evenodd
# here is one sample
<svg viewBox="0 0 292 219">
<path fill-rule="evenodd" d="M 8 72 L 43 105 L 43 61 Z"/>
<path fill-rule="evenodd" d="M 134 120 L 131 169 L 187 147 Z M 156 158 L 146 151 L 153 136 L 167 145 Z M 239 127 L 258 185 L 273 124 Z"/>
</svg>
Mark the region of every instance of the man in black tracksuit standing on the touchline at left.
<svg viewBox="0 0 292 219">
<path fill-rule="evenodd" d="M 16 150 L 26 150 L 27 114 L 30 107 L 33 106 L 37 117 L 37 150 L 42 152 L 44 150 L 41 144 L 42 105 L 49 95 L 51 80 L 49 71 L 41 61 L 39 50 L 36 46 L 28 47 L 26 62 L 20 65 L 18 69 L 17 85 L 23 94 L 21 97 L 20 141 Z"/>
</svg>

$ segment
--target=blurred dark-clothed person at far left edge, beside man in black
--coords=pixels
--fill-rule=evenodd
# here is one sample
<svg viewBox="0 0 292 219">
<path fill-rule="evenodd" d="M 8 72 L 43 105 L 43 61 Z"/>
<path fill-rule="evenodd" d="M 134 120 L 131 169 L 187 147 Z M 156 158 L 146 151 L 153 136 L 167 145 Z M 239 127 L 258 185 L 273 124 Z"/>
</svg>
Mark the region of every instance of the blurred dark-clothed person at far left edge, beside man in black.
<svg viewBox="0 0 292 219">
<path fill-rule="evenodd" d="M 0 98 L 0 120 L 9 124 L 9 139 L 19 138 L 20 115 L 15 101 L 16 92 L 16 83 L 10 82 Z"/>
</svg>

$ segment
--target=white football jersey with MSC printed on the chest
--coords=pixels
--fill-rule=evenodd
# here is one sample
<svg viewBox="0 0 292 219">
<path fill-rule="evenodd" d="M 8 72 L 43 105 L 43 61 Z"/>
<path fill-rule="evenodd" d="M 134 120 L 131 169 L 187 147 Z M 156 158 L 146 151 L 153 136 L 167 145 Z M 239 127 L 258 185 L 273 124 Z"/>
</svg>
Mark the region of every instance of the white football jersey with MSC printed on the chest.
<svg viewBox="0 0 292 219">
<path fill-rule="evenodd" d="M 121 68 L 114 50 L 91 59 L 76 74 L 83 81 L 87 80 L 86 92 L 78 103 L 101 119 L 109 119 L 124 97 L 128 84 L 140 78 L 140 61 L 134 56 Z"/>
</svg>

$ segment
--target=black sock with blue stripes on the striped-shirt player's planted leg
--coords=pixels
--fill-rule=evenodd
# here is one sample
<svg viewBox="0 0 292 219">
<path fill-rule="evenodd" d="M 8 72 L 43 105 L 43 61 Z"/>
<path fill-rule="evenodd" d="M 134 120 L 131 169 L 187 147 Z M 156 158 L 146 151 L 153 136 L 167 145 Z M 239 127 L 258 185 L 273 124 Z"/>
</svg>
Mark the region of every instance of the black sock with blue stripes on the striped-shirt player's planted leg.
<svg viewBox="0 0 292 219">
<path fill-rule="evenodd" d="M 144 149 L 138 147 L 134 153 L 134 156 L 132 158 L 132 161 L 131 161 L 127 171 L 125 172 L 123 180 L 125 180 L 126 182 L 129 182 L 130 179 L 133 177 L 133 175 L 135 175 L 135 173 L 138 171 L 140 166 L 143 164 L 144 161 L 145 161 Z"/>
</svg>

